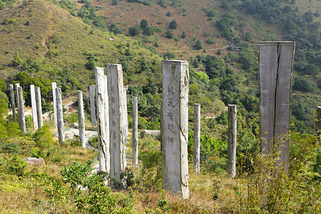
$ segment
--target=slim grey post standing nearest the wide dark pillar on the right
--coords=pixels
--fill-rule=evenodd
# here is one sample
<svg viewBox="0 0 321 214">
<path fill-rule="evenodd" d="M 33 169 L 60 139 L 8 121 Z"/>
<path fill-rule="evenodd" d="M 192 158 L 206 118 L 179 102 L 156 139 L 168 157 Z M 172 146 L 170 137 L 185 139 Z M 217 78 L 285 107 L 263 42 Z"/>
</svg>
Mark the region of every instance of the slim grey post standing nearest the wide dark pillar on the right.
<svg viewBox="0 0 321 214">
<path fill-rule="evenodd" d="M 235 177 L 236 173 L 236 105 L 228 105 L 228 174 Z"/>
</svg>

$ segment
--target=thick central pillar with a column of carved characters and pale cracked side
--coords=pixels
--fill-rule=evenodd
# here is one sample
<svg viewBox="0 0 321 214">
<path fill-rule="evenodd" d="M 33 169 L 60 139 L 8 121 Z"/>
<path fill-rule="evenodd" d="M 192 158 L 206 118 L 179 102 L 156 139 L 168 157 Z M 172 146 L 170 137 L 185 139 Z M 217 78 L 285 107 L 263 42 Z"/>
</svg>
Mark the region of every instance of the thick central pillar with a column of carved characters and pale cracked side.
<svg viewBox="0 0 321 214">
<path fill-rule="evenodd" d="M 188 61 L 162 61 L 162 73 L 163 189 L 188 198 Z"/>
</svg>

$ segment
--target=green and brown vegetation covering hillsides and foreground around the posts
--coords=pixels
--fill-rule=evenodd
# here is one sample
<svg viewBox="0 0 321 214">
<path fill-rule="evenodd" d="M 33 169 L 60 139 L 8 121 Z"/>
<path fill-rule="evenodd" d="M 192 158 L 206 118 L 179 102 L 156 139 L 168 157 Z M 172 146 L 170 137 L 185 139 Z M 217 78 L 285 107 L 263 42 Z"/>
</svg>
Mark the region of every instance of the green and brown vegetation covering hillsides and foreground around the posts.
<svg viewBox="0 0 321 214">
<path fill-rule="evenodd" d="M 86 0 L 0 0 L 2 195 L 9 195 L 20 213 L 320 212 L 321 155 L 313 136 L 315 106 L 321 103 L 320 13 L 303 4 L 315 1 L 200 0 L 196 5 L 190 0 L 112 0 L 102 5 Z M 137 19 L 132 19 L 133 14 Z M 276 150 L 270 156 L 260 155 L 257 44 L 270 40 L 296 42 L 289 173 L 276 170 Z M 193 103 L 201 104 L 204 116 L 202 171 L 190 173 L 190 200 L 182 202 L 161 192 L 160 142 L 153 138 L 141 140 L 141 167 L 123 172 L 126 185 L 120 182 L 116 190 L 104 185 L 105 174 L 88 173 L 91 165 L 85 163 L 96 152 L 82 150 L 76 140 L 58 145 L 52 139 L 52 122 L 33 133 L 29 116 L 29 131 L 22 135 L 12 116 L 7 116 L 9 83 L 20 83 L 26 105 L 30 105 L 29 86 L 39 86 L 43 112 L 51 113 L 52 81 L 63 96 L 71 96 L 94 83 L 95 66 L 121 63 L 128 86 L 128 114 L 130 97 L 138 96 L 139 128 L 158 129 L 161 58 L 189 61 L 190 163 Z M 228 104 L 238 106 L 235 180 L 225 175 L 228 115 L 224 106 Z M 77 121 L 76 114 L 65 118 Z M 90 119 L 89 114 L 86 118 Z M 26 165 L 21 160 L 26 156 L 44 158 L 47 164 Z M 4 212 L 12 209 L 4 199 L 0 204 Z"/>
</svg>

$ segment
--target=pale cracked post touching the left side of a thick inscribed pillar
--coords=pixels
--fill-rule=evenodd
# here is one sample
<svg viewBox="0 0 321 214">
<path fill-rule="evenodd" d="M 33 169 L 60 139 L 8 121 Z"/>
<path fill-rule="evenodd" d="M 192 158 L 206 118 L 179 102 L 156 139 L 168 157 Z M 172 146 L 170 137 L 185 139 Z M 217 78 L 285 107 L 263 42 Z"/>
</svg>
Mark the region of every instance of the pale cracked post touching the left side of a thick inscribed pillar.
<svg viewBox="0 0 321 214">
<path fill-rule="evenodd" d="M 105 123 L 105 83 L 103 68 L 95 68 L 96 74 L 96 101 L 97 101 L 97 131 L 98 131 L 98 148 L 99 148 L 99 170 L 108 173 L 109 153 L 106 143 L 106 123 Z M 108 118 L 107 118 L 108 119 Z"/>
</svg>

